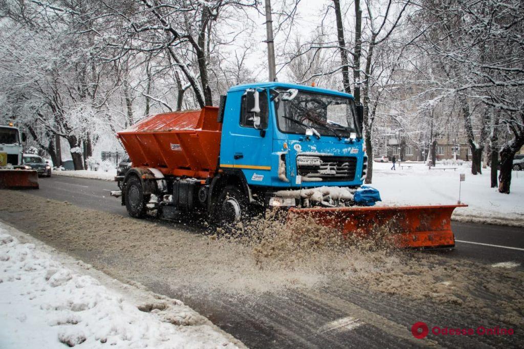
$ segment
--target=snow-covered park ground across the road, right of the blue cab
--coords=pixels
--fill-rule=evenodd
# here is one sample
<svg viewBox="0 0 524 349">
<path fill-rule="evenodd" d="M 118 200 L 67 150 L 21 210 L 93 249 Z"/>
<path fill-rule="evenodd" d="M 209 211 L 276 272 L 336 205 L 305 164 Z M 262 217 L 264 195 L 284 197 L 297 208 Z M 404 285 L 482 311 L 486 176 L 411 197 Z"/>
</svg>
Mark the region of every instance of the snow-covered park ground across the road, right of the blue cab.
<svg viewBox="0 0 524 349">
<path fill-rule="evenodd" d="M 456 204 L 459 200 L 460 173 L 462 182 L 461 201 L 469 205 L 457 208 L 453 219 L 466 222 L 484 222 L 503 225 L 524 225 L 524 171 L 513 171 L 511 194 L 501 194 L 490 188 L 489 168 L 473 176 L 471 168 L 438 164 L 437 168 L 458 167 L 453 170 L 429 170 L 422 163 L 405 163 L 411 168 L 392 171 L 391 162 L 373 163 L 372 187 L 380 191 L 380 205 Z"/>
</svg>

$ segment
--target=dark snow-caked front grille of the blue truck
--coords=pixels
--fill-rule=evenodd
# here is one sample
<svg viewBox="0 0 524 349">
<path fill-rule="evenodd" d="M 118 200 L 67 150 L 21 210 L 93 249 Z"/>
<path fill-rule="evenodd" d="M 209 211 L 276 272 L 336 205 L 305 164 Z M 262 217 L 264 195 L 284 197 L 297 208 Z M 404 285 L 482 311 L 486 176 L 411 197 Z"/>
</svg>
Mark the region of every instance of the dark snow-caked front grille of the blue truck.
<svg viewBox="0 0 524 349">
<path fill-rule="evenodd" d="M 297 171 L 303 182 L 342 182 L 355 180 L 354 156 L 298 156 Z"/>
</svg>

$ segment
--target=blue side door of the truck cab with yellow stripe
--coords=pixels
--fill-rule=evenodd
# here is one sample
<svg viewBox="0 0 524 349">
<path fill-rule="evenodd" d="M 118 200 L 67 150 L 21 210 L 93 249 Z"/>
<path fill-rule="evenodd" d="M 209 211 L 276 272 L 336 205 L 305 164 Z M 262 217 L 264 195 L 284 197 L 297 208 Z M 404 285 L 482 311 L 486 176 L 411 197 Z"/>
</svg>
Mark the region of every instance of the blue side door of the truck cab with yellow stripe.
<svg viewBox="0 0 524 349">
<path fill-rule="evenodd" d="M 233 141 L 234 167 L 242 169 L 247 182 L 255 186 L 271 183 L 272 130 L 268 105 L 267 89 L 259 91 L 260 127 L 257 129 L 254 126 L 256 115 L 247 110 L 246 95 L 242 95 Z"/>
</svg>

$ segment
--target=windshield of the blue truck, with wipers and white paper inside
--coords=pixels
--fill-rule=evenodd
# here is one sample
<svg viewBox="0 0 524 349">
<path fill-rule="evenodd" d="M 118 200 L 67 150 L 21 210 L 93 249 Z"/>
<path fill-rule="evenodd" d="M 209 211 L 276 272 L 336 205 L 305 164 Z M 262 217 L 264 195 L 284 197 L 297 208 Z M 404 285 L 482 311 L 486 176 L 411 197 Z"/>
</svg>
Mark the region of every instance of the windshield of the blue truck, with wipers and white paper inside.
<svg viewBox="0 0 524 349">
<path fill-rule="evenodd" d="M 277 97 L 275 111 L 278 128 L 284 133 L 303 135 L 312 127 L 323 136 L 340 138 L 357 132 L 354 102 L 348 98 L 299 91 L 290 101 Z"/>
</svg>

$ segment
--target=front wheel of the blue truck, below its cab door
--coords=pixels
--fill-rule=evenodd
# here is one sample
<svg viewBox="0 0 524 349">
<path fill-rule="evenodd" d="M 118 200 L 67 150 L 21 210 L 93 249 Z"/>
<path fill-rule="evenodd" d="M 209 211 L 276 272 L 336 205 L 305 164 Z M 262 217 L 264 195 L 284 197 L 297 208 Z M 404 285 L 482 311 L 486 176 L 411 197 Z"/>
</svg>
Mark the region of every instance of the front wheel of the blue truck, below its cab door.
<svg viewBox="0 0 524 349">
<path fill-rule="evenodd" d="M 247 198 L 244 193 L 235 186 L 227 186 L 222 189 L 216 201 L 216 222 L 230 228 L 242 220 L 247 213 L 246 210 Z"/>
</svg>

